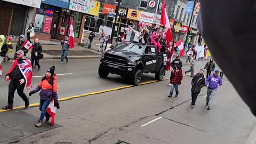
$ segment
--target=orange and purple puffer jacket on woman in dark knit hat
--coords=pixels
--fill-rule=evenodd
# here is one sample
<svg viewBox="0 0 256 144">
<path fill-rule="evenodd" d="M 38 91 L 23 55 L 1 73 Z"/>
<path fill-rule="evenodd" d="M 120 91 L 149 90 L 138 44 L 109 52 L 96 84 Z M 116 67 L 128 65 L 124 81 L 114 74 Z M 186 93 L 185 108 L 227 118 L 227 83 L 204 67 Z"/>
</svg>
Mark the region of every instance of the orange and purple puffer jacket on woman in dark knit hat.
<svg viewBox="0 0 256 144">
<path fill-rule="evenodd" d="M 58 81 L 57 81 L 57 75 L 53 75 L 54 81 L 53 84 L 50 84 L 49 81 L 51 78 L 46 78 L 44 81 L 41 81 L 35 90 L 33 90 L 35 93 L 40 91 L 39 93 L 41 100 L 52 100 L 54 99 L 54 102 L 58 102 Z"/>
</svg>

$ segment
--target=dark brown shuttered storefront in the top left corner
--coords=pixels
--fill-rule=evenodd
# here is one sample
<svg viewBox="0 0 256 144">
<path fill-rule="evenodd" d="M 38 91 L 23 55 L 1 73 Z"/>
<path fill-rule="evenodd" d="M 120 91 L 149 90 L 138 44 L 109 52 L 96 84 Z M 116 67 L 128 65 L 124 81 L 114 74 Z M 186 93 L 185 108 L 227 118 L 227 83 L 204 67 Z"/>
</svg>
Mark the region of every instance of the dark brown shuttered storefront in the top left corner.
<svg viewBox="0 0 256 144">
<path fill-rule="evenodd" d="M 26 23 L 30 7 L 39 7 L 41 1 L 30 1 L 22 3 L 22 0 L 0 1 L 0 34 L 13 37 L 13 41 L 18 41 L 18 36 L 26 34 Z M 34 3 L 34 4 L 33 4 Z M 22 15 L 22 17 L 21 17 Z"/>
</svg>

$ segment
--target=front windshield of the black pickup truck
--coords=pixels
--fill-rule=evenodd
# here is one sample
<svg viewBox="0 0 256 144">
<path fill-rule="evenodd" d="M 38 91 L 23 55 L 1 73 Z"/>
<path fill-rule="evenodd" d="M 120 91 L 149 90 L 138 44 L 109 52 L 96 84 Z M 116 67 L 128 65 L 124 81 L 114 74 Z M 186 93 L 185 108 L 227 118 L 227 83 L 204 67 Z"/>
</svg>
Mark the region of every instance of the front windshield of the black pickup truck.
<svg viewBox="0 0 256 144">
<path fill-rule="evenodd" d="M 116 49 L 142 54 L 144 52 L 145 46 L 144 45 L 139 45 L 139 44 L 123 42 L 123 43 L 118 44 L 116 46 Z"/>
</svg>

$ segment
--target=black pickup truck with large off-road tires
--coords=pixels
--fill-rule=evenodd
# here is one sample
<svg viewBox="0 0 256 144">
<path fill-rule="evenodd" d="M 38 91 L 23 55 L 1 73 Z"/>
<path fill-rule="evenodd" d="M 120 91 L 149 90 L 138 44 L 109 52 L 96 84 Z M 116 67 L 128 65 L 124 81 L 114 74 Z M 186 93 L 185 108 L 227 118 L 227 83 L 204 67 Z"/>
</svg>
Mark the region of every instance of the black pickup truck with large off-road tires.
<svg viewBox="0 0 256 144">
<path fill-rule="evenodd" d="M 154 45 L 122 42 L 102 54 L 99 76 L 106 78 L 109 73 L 129 77 L 133 85 L 138 85 L 143 73 L 155 73 L 162 81 L 167 63 L 166 53 L 157 53 Z"/>
</svg>

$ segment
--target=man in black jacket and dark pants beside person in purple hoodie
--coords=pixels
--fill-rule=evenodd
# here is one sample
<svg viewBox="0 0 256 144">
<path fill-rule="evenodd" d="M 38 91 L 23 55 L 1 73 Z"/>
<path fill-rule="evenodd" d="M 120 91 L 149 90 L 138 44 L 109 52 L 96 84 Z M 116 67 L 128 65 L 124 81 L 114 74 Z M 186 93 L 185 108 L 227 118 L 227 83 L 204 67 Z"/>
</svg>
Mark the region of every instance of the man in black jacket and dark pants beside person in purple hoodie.
<svg viewBox="0 0 256 144">
<path fill-rule="evenodd" d="M 191 102 L 191 108 L 195 108 L 195 103 L 198 94 L 201 92 L 202 87 L 204 87 L 204 70 L 200 69 L 199 73 L 197 73 L 192 81 L 191 81 L 191 97 L 192 97 L 192 102 Z"/>
</svg>

